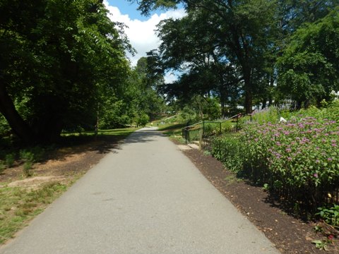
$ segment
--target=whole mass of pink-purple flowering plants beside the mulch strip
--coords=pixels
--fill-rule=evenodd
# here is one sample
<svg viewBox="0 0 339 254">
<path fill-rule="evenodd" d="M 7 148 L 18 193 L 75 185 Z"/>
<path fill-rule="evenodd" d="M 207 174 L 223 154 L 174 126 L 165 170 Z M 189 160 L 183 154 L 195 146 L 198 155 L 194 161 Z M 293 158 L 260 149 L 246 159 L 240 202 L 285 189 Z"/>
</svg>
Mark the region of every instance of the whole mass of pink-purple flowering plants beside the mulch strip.
<svg viewBox="0 0 339 254">
<path fill-rule="evenodd" d="M 315 209 L 338 188 L 339 117 L 333 109 L 303 113 L 287 123 L 249 124 L 237 135 L 217 138 L 212 154 L 285 200 Z"/>
</svg>

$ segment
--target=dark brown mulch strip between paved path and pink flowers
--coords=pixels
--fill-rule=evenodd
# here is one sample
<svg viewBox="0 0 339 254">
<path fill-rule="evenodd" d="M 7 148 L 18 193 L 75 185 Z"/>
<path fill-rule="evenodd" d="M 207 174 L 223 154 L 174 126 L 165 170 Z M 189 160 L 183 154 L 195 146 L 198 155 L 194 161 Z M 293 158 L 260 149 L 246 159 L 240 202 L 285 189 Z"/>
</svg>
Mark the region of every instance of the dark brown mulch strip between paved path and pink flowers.
<svg viewBox="0 0 339 254">
<path fill-rule="evenodd" d="M 338 239 L 335 240 L 337 246 L 328 244 L 329 251 L 316 248 L 311 241 L 326 239 L 325 235 L 316 234 L 316 224 L 302 222 L 288 215 L 270 202 L 270 197 L 263 188 L 237 179 L 221 162 L 210 155 L 203 155 L 199 150 L 187 150 L 184 154 L 220 193 L 263 231 L 281 253 L 339 253 Z"/>
</svg>

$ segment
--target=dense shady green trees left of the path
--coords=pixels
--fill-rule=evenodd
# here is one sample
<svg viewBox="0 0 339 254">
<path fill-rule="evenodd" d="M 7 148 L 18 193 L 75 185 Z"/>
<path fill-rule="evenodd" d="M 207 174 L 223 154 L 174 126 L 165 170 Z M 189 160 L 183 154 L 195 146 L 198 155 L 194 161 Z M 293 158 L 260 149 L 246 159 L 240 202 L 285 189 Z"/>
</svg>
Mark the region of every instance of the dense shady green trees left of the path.
<svg viewBox="0 0 339 254">
<path fill-rule="evenodd" d="M 126 52 L 124 24 L 102 1 L 0 1 L 1 137 L 50 143 L 161 112 L 145 59 L 131 68 Z"/>
</svg>

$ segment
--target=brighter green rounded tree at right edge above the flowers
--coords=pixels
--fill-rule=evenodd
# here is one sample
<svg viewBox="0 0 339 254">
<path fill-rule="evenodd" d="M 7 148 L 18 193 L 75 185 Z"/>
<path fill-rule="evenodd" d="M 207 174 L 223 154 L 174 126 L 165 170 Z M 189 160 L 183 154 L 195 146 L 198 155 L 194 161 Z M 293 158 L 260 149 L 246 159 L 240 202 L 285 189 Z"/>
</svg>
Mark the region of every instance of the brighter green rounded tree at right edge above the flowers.
<svg viewBox="0 0 339 254">
<path fill-rule="evenodd" d="M 299 28 L 278 61 L 280 90 L 306 106 L 339 90 L 339 9 Z"/>
</svg>

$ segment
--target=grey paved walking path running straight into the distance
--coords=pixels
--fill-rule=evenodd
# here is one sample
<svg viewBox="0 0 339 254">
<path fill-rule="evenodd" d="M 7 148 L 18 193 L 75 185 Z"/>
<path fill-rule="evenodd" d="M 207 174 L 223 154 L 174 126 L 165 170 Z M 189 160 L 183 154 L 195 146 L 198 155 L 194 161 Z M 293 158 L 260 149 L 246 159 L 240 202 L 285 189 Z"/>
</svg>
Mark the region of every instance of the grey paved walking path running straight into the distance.
<svg viewBox="0 0 339 254">
<path fill-rule="evenodd" d="M 278 253 L 176 145 L 127 138 L 0 253 Z"/>
</svg>

